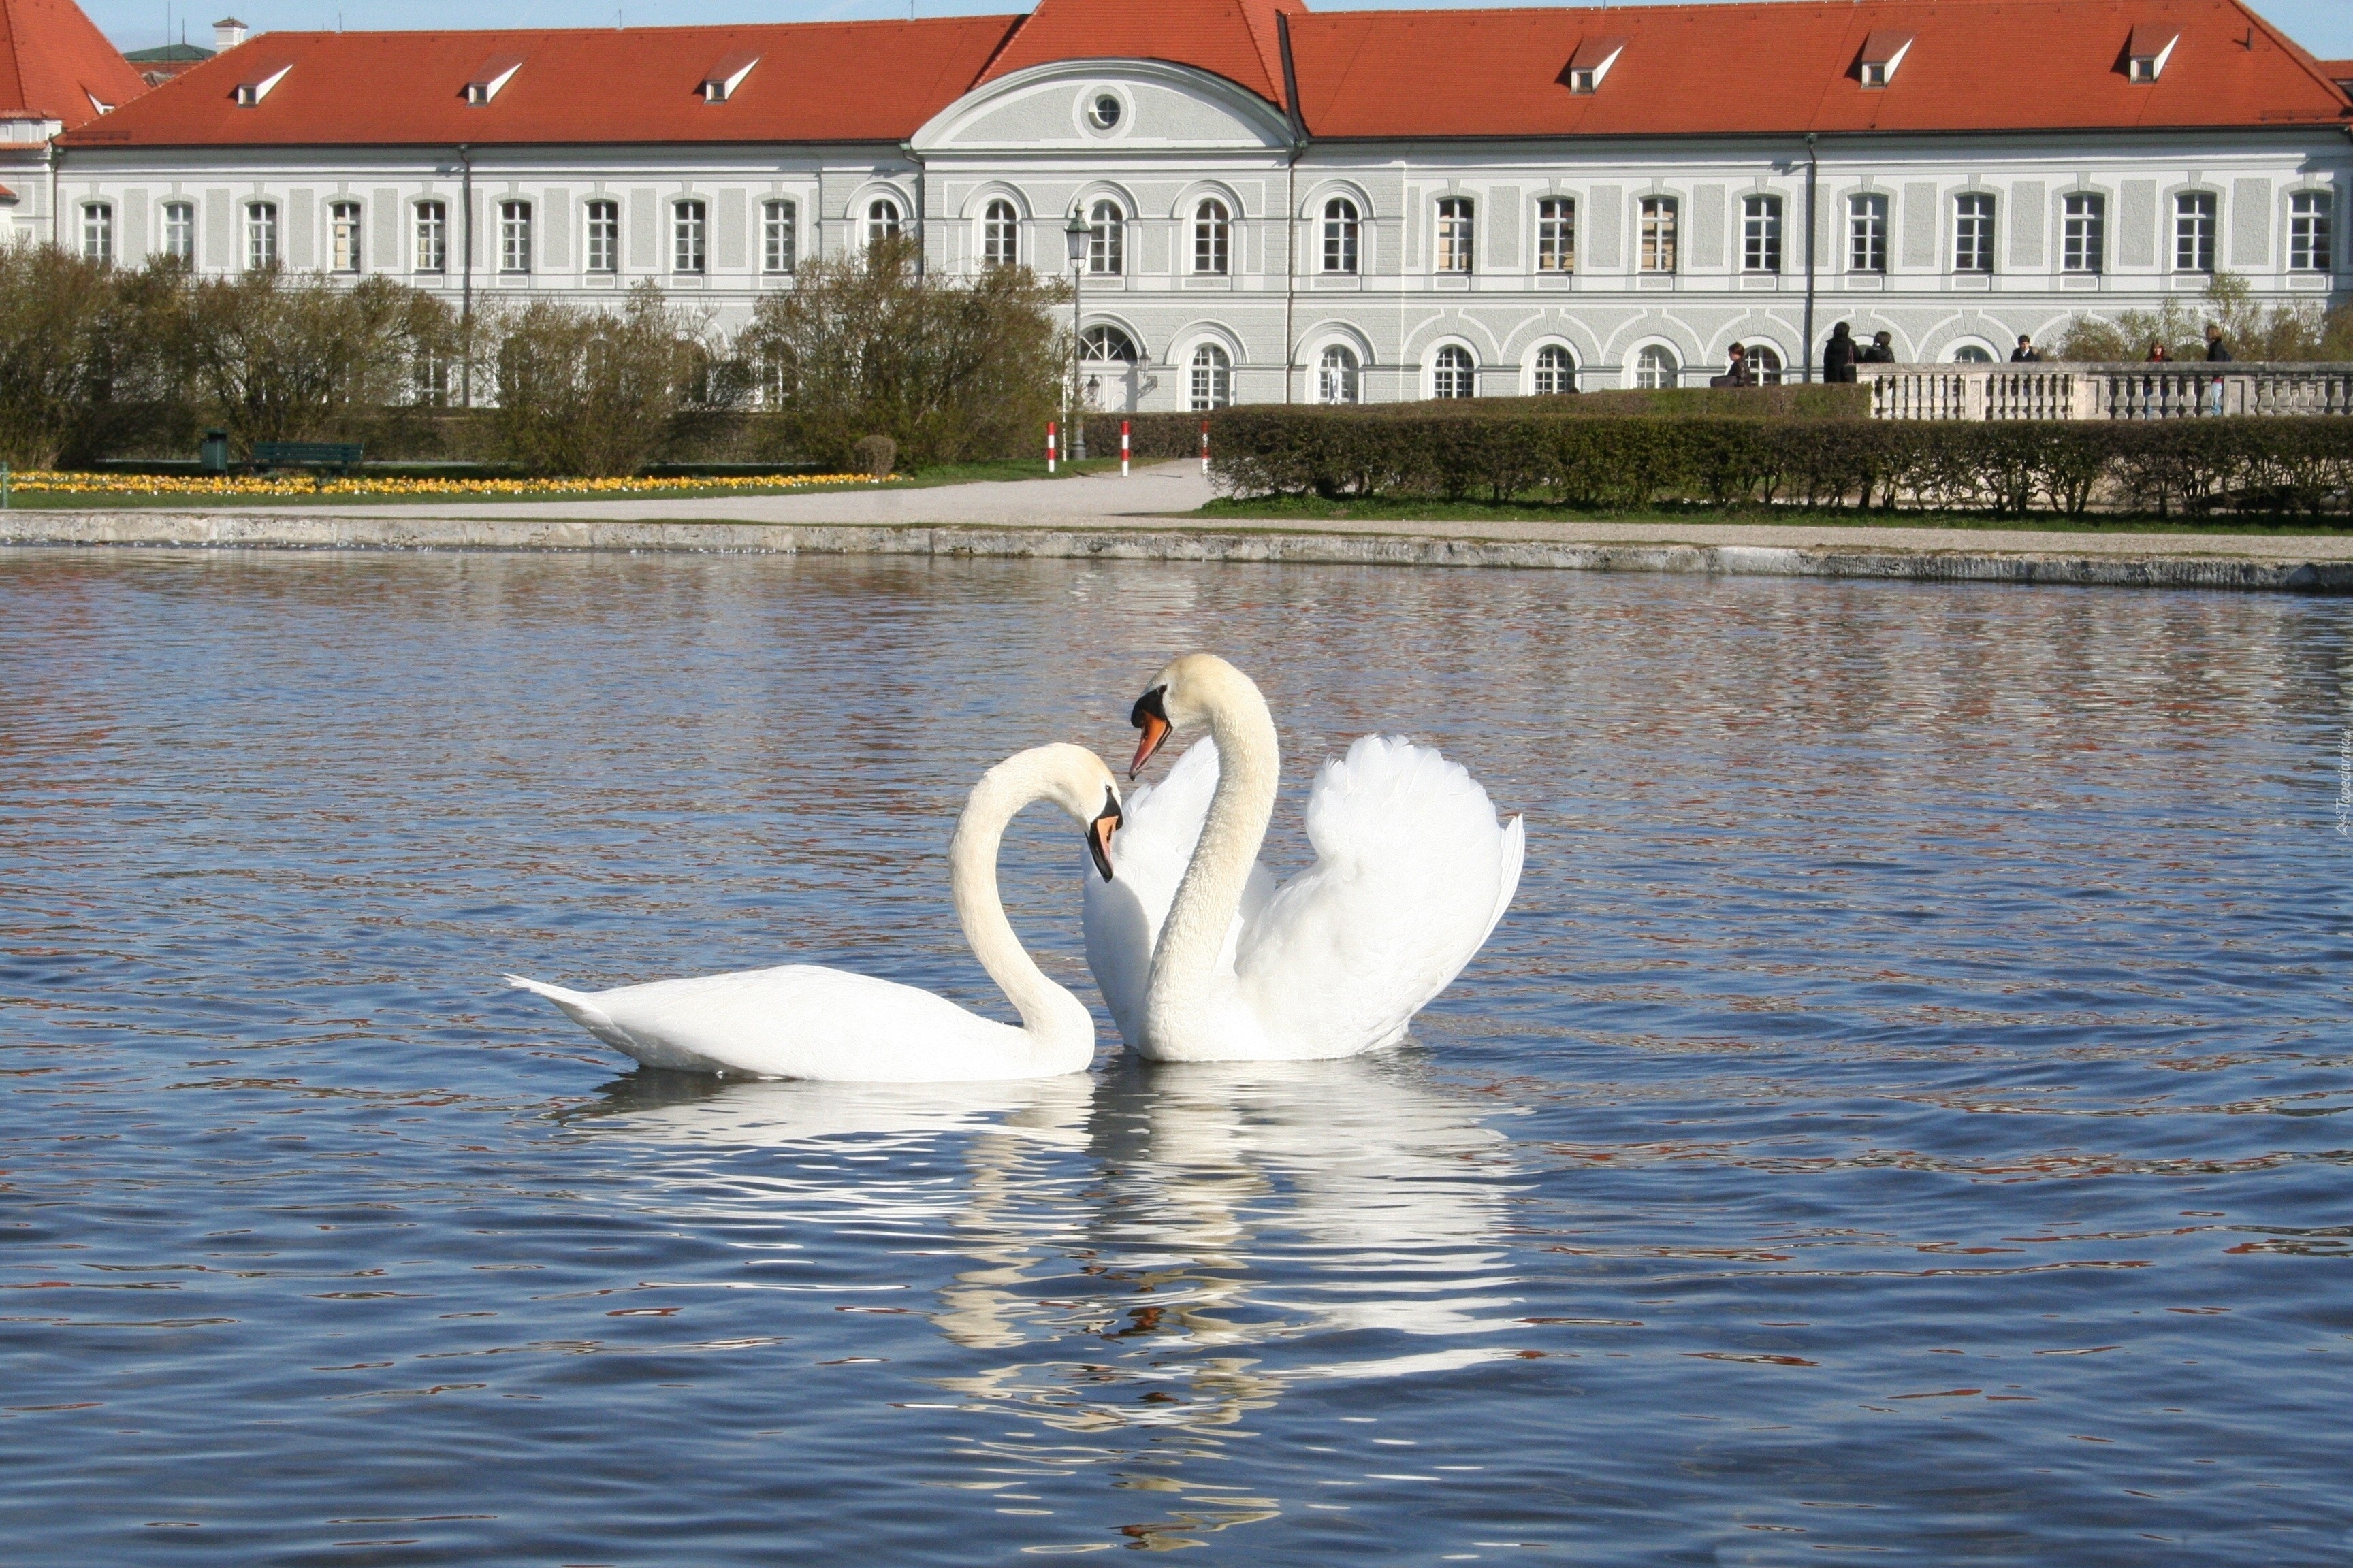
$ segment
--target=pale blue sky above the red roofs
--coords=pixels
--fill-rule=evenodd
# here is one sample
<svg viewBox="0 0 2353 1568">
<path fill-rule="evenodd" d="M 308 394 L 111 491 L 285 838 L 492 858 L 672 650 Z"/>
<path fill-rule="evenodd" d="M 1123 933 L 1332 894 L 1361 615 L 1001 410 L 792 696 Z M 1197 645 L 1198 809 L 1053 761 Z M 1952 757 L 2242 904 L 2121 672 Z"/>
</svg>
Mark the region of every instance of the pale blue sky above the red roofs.
<svg viewBox="0 0 2353 1568">
<path fill-rule="evenodd" d="M 915 0 L 918 14 L 1019 12 L 1031 0 Z M 1318 12 L 1355 9 L 1379 0 L 1311 0 Z M 1417 0 L 1447 5 L 1447 0 Z M 1492 2 L 1492 0 L 1489 0 Z M 1617 5 L 1647 0 L 1617 0 Z M 226 9 L 224 9 L 226 7 Z M 167 0 L 82 0 L 92 21 L 122 49 L 146 49 L 165 40 Z M 614 5 L 602 0 L 205 0 L 169 5 L 172 35 L 188 24 L 188 42 L 212 42 L 216 16 L 242 16 L 254 31 L 332 28 L 595 28 L 612 26 Z M 621 0 L 635 26 L 692 21 L 826 21 L 854 16 L 906 16 L 906 0 Z M 2325 59 L 2353 56 L 2353 0 L 2264 0 L 2257 9 L 2289 38 Z"/>
</svg>

